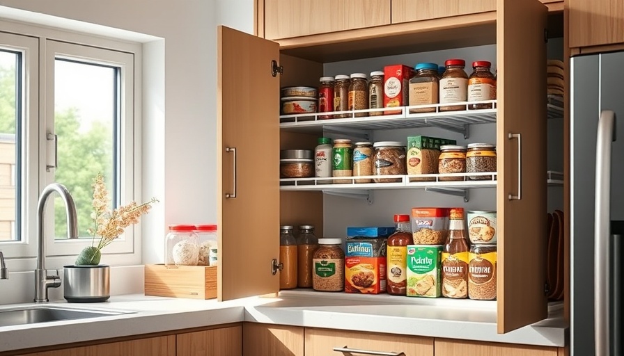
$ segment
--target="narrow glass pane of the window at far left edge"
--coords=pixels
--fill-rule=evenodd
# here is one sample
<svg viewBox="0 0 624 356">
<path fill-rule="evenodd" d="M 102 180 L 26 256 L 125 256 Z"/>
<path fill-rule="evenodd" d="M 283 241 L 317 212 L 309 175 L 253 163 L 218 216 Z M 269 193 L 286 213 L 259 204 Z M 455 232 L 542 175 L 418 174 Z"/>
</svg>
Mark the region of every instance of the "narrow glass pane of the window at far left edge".
<svg viewBox="0 0 624 356">
<path fill-rule="evenodd" d="M 21 60 L 0 49 L 0 241 L 20 240 Z"/>
</svg>

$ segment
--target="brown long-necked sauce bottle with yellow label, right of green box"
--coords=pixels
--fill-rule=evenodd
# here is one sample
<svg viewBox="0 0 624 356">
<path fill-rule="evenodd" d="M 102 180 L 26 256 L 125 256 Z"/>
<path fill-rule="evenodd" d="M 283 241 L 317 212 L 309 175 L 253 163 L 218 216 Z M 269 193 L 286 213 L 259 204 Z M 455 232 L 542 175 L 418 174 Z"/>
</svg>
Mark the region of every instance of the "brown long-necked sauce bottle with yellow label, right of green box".
<svg viewBox="0 0 624 356">
<path fill-rule="evenodd" d="M 464 209 L 451 209 L 448 238 L 442 251 L 442 296 L 468 297 L 468 241 L 464 231 Z"/>
</svg>

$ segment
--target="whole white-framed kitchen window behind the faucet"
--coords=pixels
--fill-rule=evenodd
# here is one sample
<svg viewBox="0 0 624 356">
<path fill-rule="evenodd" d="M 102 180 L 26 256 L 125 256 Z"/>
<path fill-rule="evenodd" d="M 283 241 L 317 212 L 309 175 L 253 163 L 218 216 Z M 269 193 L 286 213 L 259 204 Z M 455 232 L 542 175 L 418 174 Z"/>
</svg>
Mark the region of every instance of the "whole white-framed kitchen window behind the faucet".
<svg viewBox="0 0 624 356">
<path fill-rule="evenodd" d="M 0 32 L 0 250 L 36 255 L 38 192 L 56 181 L 74 197 L 79 223 L 79 238 L 68 239 L 63 202 L 49 200 L 47 256 L 58 268 L 91 245 L 98 172 L 111 208 L 141 200 L 141 47 L 22 24 L 2 28 L 11 26 L 15 33 Z M 107 263 L 140 263 L 138 229 L 128 227 L 104 250 Z"/>
</svg>

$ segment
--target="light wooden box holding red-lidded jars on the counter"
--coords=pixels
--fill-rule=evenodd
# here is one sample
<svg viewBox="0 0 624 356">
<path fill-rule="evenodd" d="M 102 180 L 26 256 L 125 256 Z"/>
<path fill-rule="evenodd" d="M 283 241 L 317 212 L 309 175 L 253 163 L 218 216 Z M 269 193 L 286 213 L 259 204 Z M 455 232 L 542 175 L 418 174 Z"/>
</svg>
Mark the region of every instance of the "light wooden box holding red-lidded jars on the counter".
<svg viewBox="0 0 624 356">
<path fill-rule="evenodd" d="M 145 266 L 145 295 L 175 298 L 217 298 L 217 266 Z"/>
</svg>

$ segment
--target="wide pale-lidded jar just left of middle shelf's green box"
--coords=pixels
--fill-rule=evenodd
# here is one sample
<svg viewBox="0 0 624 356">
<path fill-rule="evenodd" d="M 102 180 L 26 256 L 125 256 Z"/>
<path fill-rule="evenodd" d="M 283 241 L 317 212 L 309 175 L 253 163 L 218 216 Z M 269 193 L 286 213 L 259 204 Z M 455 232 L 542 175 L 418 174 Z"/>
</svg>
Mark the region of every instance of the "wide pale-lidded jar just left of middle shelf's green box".
<svg viewBox="0 0 624 356">
<path fill-rule="evenodd" d="M 405 145 L 398 141 L 376 142 L 373 153 L 375 175 L 407 175 L 407 154 Z M 402 178 L 375 178 L 375 183 L 392 183 L 402 181 Z"/>
</svg>

